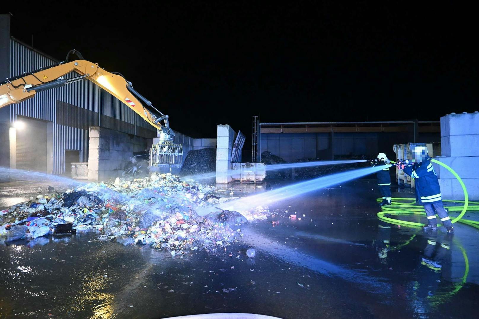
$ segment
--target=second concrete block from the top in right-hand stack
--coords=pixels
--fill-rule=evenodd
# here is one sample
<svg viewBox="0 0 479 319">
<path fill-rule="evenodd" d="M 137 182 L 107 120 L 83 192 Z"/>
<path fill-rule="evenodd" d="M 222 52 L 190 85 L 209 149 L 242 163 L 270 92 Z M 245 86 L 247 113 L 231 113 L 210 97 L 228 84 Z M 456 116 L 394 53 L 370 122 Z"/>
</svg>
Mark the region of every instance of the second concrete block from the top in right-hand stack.
<svg viewBox="0 0 479 319">
<path fill-rule="evenodd" d="M 479 156 L 479 134 L 441 137 L 441 148 L 446 157 Z"/>
</svg>

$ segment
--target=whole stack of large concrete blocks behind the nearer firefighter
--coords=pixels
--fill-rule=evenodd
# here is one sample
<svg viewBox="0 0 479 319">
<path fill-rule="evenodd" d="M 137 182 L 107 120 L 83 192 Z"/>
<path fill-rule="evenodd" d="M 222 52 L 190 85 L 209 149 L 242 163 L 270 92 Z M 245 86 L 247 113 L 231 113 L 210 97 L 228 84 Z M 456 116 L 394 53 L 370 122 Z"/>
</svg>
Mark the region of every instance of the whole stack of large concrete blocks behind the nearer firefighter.
<svg viewBox="0 0 479 319">
<path fill-rule="evenodd" d="M 436 158 L 450 166 L 462 179 L 470 200 L 479 199 L 479 112 L 447 114 L 441 117 L 441 151 Z M 445 168 L 434 164 L 444 199 L 464 200 L 456 178 Z"/>
</svg>

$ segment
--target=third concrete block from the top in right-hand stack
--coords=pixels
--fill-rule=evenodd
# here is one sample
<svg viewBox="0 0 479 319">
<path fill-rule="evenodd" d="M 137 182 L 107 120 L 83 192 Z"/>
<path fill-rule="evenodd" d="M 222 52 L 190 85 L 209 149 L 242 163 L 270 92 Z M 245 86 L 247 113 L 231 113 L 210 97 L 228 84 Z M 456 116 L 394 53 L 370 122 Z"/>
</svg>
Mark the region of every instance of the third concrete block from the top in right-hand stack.
<svg viewBox="0 0 479 319">
<path fill-rule="evenodd" d="M 435 158 L 456 171 L 460 178 L 479 178 L 479 156 Z M 438 178 L 451 178 L 454 175 L 445 167 L 433 163 Z"/>
</svg>

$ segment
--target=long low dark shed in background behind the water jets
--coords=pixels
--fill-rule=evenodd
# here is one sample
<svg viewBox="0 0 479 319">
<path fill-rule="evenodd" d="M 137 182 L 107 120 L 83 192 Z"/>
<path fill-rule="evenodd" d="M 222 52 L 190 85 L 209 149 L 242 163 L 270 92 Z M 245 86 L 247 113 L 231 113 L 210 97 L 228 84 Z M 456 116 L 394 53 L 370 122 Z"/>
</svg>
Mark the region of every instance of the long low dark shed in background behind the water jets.
<svg viewBox="0 0 479 319">
<path fill-rule="evenodd" d="M 256 127 L 261 152 L 253 153 L 260 157 L 270 151 L 288 162 L 392 153 L 394 144 L 441 141 L 439 121 L 258 123 Z"/>
</svg>

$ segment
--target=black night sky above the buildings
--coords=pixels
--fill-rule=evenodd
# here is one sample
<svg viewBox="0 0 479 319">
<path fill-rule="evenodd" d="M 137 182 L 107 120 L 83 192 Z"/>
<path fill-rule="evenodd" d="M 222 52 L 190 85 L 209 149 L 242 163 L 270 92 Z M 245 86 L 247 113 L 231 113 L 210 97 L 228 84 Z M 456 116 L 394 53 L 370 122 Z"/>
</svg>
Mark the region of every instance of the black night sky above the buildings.
<svg viewBox="0 0 479 319">
<path fill-rule="evenodd" d="M 1 10 L 13 14 L 12 36 L 121 72 L 193 137 L 230 124 L 249 139 L 252 115 L 439 120 L 479 110 L 477 11 L 457 1 L 84 2 Z"/>
</svg>

